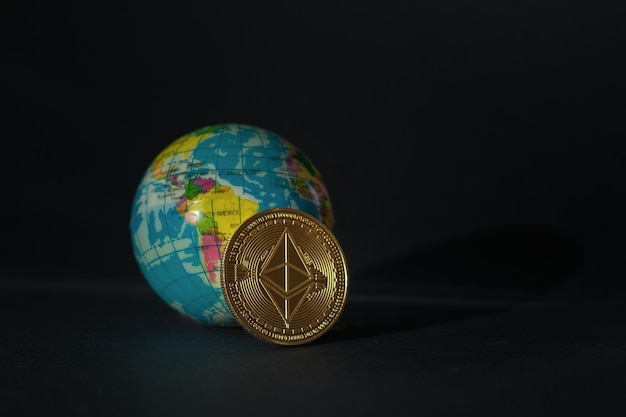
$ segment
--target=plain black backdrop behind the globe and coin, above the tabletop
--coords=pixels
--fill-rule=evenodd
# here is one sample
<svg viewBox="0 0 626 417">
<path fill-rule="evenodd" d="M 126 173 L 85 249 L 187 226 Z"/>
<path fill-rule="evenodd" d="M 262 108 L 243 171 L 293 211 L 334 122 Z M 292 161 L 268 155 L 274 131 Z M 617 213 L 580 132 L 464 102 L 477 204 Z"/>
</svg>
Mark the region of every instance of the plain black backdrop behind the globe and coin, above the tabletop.
<svg viewBox="0 0 626 417">
<path fill-rule="evenodd" d="M 239 122 L 291 140 L 321 171 L 357 292 L 401 292 L 407 283 L 444 298 L 468 289 L 495 298 L 554 290 L 578 294 L 576 303 L 621 305 L 620 2 L 1 7 L 5 297 L 85 283 L 98 291 L 146 286 L 128 228 L 144 170 L 177 137 Z M 594 346 L 610 345 L 602 340 Z M 620 340 L 610 345 L 614 355 L 623 353 Z M 5 358 L 2 369 L 13 372 Z M 623 387 L 623 377 L 606 378 L 615 384 L 602 392 Z M 5 393 L 34 384 L 18 381 Z"/>
</svg>

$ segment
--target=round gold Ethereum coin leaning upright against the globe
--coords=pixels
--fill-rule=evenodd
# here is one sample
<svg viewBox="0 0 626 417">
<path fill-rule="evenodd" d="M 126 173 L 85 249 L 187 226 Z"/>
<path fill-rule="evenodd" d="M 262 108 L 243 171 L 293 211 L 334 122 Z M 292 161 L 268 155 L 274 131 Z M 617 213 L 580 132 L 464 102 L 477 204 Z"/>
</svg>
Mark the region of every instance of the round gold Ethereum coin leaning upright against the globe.
<svg viewBox="0 0 626 417">
<path fill-rule="evenodd" d="M 269 209 L 244 221 L 225 245 L 222 271 L 235 319 L 266 342 L 311 342 L 333 327 L 346 303 L 341 246 L 300 210 Z"/>
</svg>

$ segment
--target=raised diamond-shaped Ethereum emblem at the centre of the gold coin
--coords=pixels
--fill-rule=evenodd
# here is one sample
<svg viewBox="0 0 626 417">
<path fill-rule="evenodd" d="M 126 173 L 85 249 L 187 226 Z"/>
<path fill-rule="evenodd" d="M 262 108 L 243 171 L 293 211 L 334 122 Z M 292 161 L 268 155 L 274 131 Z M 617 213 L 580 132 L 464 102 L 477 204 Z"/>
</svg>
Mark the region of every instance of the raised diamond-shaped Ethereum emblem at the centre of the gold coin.
<svg viewBox="0 0 626 417">
<path fill-rule="evenodd" d="M 307 295 L 313 277 L 287 229 L 276 242 L 259 275 L 263 287 L 288 325 Z"/>
</svg>

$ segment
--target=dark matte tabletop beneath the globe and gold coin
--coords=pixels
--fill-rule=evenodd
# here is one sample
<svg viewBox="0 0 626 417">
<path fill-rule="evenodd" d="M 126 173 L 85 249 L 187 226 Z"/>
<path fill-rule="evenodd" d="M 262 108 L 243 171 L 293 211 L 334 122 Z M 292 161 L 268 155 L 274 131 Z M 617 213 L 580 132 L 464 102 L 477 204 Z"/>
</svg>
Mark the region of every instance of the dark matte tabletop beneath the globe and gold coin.
<svg viewBox="0 0 626 417">
<path fill-rule="evenodd" d="M 335 328 L 295 347 L 192 322 L 147 284 L 5 279 L 0 407 L 3 416 L 623 415 L 624 297 L 586 288 L 587 273 L 532 291 L 353 276 Z"/>
</svg>

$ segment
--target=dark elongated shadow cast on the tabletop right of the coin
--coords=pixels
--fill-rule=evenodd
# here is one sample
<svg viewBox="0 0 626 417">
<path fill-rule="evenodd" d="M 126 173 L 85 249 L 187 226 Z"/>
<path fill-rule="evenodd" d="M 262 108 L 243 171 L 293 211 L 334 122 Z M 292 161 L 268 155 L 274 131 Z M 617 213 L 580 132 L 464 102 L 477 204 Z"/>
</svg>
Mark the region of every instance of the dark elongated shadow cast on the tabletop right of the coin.
<svg viewBox="0 0 626 417">
<path fill-rule="evenodd" d="M 332 337 L 324 339 L 400 332 L 520 305 L 541 307 L 582 260 L 574 240 L 546 230 L 492 230 L 420 249 L 351 277 L 346 308 Z"/>
</svg>

